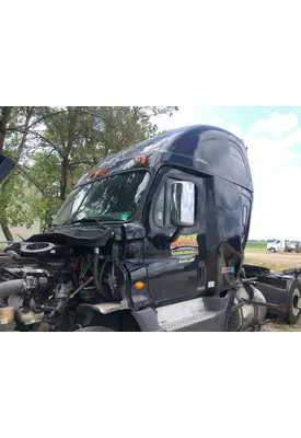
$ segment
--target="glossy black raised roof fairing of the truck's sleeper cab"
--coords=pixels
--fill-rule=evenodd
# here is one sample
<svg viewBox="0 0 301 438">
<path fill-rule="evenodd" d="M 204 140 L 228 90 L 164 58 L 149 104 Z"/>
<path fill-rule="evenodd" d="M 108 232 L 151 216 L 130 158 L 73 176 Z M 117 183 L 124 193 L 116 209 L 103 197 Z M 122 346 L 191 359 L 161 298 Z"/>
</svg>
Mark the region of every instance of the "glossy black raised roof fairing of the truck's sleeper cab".
<svg viewBox="0 0 301 438">
<path fill-rule="evenodd" d="M 243 140 L 225 129 L 209 125 L 175 129 L 123 149 L 102 160 L 91 173 L 83 175 L 78 185 L 89 182 L 91 174 L 99 170 L 108 169 L 113 173 L 141 168 L 142 158 L 147 159 L 143 168 L 165 164 L 192 169 L 223 177 L 253 192 Z"/>
</svg>

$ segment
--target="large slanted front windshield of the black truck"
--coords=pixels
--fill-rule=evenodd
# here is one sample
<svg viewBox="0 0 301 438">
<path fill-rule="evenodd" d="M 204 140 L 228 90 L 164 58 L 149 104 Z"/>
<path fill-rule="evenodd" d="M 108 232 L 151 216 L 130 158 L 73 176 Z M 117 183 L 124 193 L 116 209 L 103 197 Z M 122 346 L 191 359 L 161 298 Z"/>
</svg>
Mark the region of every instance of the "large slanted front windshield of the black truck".
<svg viewBox="0 0 301 438">
<path fill-rule="evenodd" d="M 61 206 L 53 224 L 128 220 L 135 214 L 149 180 L 149 172 L 139 170 L 77 187 Z"/>
</svg>

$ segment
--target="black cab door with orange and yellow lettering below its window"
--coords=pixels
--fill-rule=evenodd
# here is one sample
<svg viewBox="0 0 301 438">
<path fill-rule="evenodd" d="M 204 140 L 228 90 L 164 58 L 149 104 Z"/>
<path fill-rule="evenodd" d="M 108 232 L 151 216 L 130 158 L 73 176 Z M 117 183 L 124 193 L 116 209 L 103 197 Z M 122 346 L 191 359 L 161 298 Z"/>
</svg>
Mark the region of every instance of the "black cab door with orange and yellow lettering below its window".
<svg viewBox="0 0 301 438">
<path fill-rule="evenodd" d="M 181 231 L 175 242 L 158 247 L 155 237 L 172 235 L 170 222 L 171 185 L 176 181 L 193 182 L 196 187 L 195 226 Z M 159 303 L 184 301 L 205 288 L 202 254 L 206 239 L 204 181 L 189 173 L 162 168 L 149 196 L 146 219 L 149 230 L 144 262 L 149 277 L 149 293 Z"/>
</svg>

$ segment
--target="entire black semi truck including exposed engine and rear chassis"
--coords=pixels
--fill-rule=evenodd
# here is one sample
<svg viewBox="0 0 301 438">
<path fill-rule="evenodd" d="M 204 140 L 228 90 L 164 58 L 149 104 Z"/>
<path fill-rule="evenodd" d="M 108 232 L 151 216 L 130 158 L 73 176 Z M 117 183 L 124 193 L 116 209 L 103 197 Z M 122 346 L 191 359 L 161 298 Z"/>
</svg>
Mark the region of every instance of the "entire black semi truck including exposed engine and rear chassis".
<svg viewBox="0 0 301 438">
<path fill-rule="evenodd" d="M 0 180 L 13 165 L 0 155 Z M 256 331 L 267 315 L 296 323 L 300 269 L 243 264 L 252 205 L 244 142 L 218 127 L 176 129 L 105 158 L 45 233 L 0 257 L 0 313 L 10 314 L 0 330 Z"/>
</svg>

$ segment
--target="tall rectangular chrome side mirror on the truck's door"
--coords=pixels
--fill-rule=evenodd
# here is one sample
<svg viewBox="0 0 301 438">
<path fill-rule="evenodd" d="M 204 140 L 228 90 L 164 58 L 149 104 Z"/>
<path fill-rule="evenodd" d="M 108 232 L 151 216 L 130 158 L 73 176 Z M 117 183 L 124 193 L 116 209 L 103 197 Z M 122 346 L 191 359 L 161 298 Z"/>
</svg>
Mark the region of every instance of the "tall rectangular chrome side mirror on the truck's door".
<svg viewBox="0 0 301 438">
<path fill-rule="evenodd" d="M 195 184 L 178 181 L 172 184 L 171 224 L 193 227 L 195 224 Z"/>
</svg>

